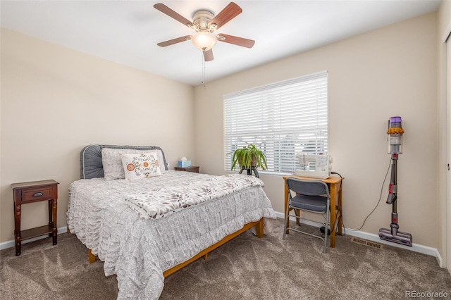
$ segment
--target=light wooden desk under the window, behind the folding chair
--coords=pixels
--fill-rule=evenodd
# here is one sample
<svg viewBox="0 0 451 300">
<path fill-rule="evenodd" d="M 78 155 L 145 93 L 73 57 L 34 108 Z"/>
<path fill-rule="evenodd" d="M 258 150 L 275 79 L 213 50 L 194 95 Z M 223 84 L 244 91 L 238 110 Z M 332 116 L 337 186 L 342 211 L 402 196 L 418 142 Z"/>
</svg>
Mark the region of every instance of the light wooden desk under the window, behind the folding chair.
<svg viewBox="0 0 451 300">
<path fill-rule="evenodd" d="M 285 185 L 285 212 L 287 211 L 288 206 L 288 187 L 285 183 L 285 180 L 288 177 L 293 177 L 297 179 L 302 180 L 321 180 L 323 182 L 326 182 L 329 186 L 329 192 L 330 192 L 330 247 L 335 248 L 335 222 L 338 220 L 338 235 L 342 235 L 342 227 L 343 227 L 343 221 L 342 221 L 342 180 L 345 178 L 338 177 L 338 176 L 331 176 L 327 179 L 320 179 L 320 178 L 310 178 L 310 177 L 300 177 L 296 175 L 289 175 L 283 177 L 283 185 Z M 334 208 L 334 209 L 333 209 Z M 287 223 L 287 228 L 290 225 L 289 220 L 285 220 Z M 299 220 L 297 220 L 297 223 L 299 223 Z M 287 230 L 287 234 L 288 234 Z M 327 230 L 325 230 L 325 234 L 327 234 Z"/>
</svg>

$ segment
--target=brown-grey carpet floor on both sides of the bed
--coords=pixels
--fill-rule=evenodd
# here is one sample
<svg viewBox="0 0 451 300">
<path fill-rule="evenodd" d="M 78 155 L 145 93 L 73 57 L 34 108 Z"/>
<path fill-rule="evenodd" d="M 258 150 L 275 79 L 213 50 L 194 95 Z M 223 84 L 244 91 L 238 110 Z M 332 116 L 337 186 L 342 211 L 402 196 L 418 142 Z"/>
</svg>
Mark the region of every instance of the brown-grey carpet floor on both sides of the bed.
<svg viewBox="0 0 451 300">
<path fill-rule="evenodd" d="M 319 232 L 315 227 L 304 229 Z M 169 276 L 160 299 L 451 299 L 451 275 L 433 256 L 384 245 L 375 249 L 336 237 L 335 249 L 292 232 L 283 220 L 262 239 L 236 237 Z M 0 299 L 116 299 L 116 277 L 89 264 L 75 235 L 58 245 L 41 239 L 0 251 Z"/>
</svg>

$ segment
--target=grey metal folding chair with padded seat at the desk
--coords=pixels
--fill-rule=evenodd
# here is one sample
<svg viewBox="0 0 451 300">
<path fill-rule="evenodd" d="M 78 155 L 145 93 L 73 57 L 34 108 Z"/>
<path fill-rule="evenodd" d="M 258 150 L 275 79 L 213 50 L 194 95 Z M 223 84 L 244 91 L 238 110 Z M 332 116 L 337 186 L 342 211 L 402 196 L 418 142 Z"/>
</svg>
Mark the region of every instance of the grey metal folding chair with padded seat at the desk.
<svg viewBox="0 0 451 300">
<path fill-rule="evenodd" d="M 328 239 L 328 223 L 330 215 L 330 194 L 329 188 L 325 182 L 321 180 L 300 180 L 293 177 L 288 177 L 285 180 L 288 187 L 288 205 L 285 212 L 285 227 L 283 229 L 283 239 L 285 239 L 287 230 L 317 237 L 324 242 L 323 252 L 326 253 L 327 239 Z M 292 196 L 292 192 L 296 196 Z M 295 210 L 295 215 L 290 215 L 290 210 Z M 307 220 L 301 218 L 300 211 L 310 211 L 311 213 L 326 213 L 326 224 L 324 225 L 324 237 L 321 235 L 312 235 L 309 232 L 304 232 L 295 228 L 288 227 L 287 223 L 290 221 L 290 216 L 294 216 L 296 220 Z"/>
</svg>

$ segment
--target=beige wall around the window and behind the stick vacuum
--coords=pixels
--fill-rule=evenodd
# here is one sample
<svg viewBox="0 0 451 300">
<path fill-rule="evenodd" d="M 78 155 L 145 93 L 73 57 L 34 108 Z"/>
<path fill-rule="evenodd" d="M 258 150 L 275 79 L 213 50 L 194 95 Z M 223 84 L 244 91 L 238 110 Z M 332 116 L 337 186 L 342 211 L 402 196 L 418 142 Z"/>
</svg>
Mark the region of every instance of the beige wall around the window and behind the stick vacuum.
<svg viewBox="0 0 451 300">
<path fill-rule="evenodd" d="M 329 153 L 333 170 L 346 178 L 345 226 L 359 228 L 378 203 L 390 163 L 387 120 L 401 115 L 400 230 L 412 233 L 416 244 L 437 247 L 436 26 L 436 13 L 429 13 L 196 87 L 197 162 L 206 173 L 225 173 L 223 94 L 327 70 Z M 261 179 L 273 208 L 282 213 L 283 179 Z M 362 231 L 378 235 L 380 227 L 389 227 L 387 189 L 385 182 L 381 203 Z"/>
</svg>

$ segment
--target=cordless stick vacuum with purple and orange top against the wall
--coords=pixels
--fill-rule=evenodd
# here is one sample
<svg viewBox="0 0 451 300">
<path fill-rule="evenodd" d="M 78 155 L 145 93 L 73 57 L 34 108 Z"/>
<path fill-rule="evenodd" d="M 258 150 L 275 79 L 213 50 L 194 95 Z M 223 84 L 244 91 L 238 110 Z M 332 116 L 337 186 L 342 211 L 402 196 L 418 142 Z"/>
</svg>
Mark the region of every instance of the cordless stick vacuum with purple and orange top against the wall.
<svg viewBox="0 0 451 300">
<path fill-rule="evenodd" d="M 401 117 L 391 117 L 388 120 L 388 154 L 392 156 L 392 170 L 390 186 L 388 187 L 387 204 L 392 205 L 392 223 L 391 229 L 379 229 L 379 237 L 389 242 L 412 246 L 412 235 L 406 232 L 400 232 L 397 225 L 397 158 L 402 154 L 402 134 L 404 130 L 401 126 Z"/>
</svg>

